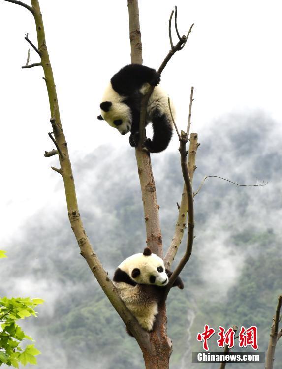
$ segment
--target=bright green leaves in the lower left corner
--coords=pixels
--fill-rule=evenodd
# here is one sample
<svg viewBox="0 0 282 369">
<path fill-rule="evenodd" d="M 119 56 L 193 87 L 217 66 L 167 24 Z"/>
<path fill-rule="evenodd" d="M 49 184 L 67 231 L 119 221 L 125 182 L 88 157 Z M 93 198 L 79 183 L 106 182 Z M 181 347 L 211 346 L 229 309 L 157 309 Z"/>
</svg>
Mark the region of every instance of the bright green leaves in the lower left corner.
<svg viewBox="0 0 282 369">
<path fill-rule="evenodd" d="M 24 349 L 20 343 L 32 338 L 27 336 L 24 331 L 16 324 L 18 319 L 25 319 L 28 316 L 36 316 L 34 308 L 42 304 L 41 299 L 30 298 L 0 298 L 0 366 L 6 364 L 15 368 L 19 363 L 26 365 L 36 364 L 35 356 L 40 354 L 34 345 L 27 345 Z"/>
</svg>

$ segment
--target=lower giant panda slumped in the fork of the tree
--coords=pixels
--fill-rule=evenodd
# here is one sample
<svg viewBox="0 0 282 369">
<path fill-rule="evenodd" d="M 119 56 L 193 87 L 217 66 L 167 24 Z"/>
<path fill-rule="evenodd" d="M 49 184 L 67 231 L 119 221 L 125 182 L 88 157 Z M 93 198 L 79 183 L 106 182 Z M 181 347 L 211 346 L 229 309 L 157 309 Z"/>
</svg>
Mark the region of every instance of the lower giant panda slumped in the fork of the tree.
<svg viewBox="0 0 282 369">
<path fill-rule="evenodd" d="M 148 332 L 153 330 L 158 303 L 171 274 L 165 269 L 163 260 L 152 253 L 149 247 L 143 253 L 129 256 L 115 271 L 113 282 L 121 299 Z M 177 277 L 174 286 L 184 288 L 180 277 Z"/>
</svg>

